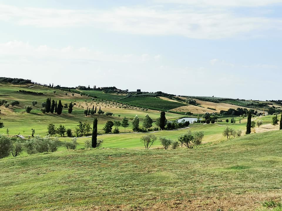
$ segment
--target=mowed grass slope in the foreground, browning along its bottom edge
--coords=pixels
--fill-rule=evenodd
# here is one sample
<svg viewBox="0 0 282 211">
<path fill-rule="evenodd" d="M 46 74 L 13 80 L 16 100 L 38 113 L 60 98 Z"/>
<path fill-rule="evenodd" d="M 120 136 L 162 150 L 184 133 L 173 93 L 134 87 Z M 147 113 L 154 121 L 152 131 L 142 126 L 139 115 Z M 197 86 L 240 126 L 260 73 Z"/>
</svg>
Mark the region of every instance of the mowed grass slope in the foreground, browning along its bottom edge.
<svg viewBox="0 0 282 211">
<path fill-rule="evenodd" d="M 263 210 L 280 200 L 281 131 L 194 149 L 92 149 L 0 160 L 1 210 Z"/>
</svg>

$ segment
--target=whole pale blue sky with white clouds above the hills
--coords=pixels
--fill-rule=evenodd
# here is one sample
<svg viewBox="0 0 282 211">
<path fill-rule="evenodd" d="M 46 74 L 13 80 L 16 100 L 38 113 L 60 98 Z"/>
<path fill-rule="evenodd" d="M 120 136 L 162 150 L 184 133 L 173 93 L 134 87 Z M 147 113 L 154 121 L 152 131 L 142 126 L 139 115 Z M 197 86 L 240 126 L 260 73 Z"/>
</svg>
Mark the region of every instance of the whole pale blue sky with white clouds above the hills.
<svg viewBox="0 0 282 211">
<path fill-rule="evenodd" d="M 282 0 L 0 0 L 0 76 L 281 99 Z"/>
</svg>

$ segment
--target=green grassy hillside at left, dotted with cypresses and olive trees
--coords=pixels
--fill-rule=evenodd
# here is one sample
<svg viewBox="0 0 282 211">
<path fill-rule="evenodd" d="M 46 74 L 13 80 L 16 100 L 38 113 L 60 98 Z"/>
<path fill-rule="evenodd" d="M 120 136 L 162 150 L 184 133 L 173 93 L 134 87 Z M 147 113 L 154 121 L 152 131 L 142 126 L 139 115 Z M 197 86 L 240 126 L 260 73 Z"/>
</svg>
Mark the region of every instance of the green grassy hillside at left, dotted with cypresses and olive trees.
<svg viewBox="0 0 282 211">
<path fill-rule="evenodd" d="M 19 90 L 32 91 L 43 93 L 42 95 L 38 94 L 27 94 L 21 93 Z M 56 91 L 56 93 L 54 93 Z M 101 91 L 97 91 L 102 93 Z M 67 93 L 67 95 L 66 95 Z M 46 101 L 46 98 L 51 97 L 53 100 L 61 100 L 62 103 L 76 103 L 73 107 L 73 112 L 68 114 L 68 109 L 64 108 L 63 113 L 61 115 L 57 115 L 55 113 L 46 113 L 43 114 L 41 112 L 41 103 Z M 31 135 L 31 128 L 35 129 L 36 134 L 46 135 L 47 126 L 50 123 L 55 124 L 58 127 L 60 124 L 65 125 L 66 128 L 71 128 L 72 130 L 78 125 L 78 121 L 88 122 L 91 125 L 93 124 L 93 119 L 98 118 L 98 132 L 103 132 L 103 127 L 107 121 L 115 121 L 122 120 L 122 118 L 134 118 L 135 115 L 138 115 L 140 118 L 140 125 L 142 125 L 142 120 L 145 115 L 148 113 L 150 117 L 155 120 L 160 117 L 160 112 L 157 110 L 148 110 L 142 111 L 138 107 L 132 108 L 122 108 L 122 104 L 113 105 L 113 102 L 108 102 L 106 104 L 105 100 L 96 99 L 96 101 L 92 101 L 92 97 L 87 97 L 85 95 L 80 96 L 80 94 L 72 93 L 68 91 L 61 91 L 58 89 L 52 89 L 48 87 L 32 85 L 31 88 L 24 88 L 19 86 L 0 86 L 0 99 L 7 100 L 8 102 L 12 100 L 18 100 L 20 104 L 18 106 L 9 106 L 9 108 L 5 108 L 4 106 L 0 106 L 1 109 L 1 122 L 4 122 L 5 127 L 0 129 L 0 133 L 5 133 L 6 129 L 10 130 L 10 135 L 16 135 L 20 133 L 21 135 Z M 36 100 L 38 103 L 36 106 L 32 106 L 31 102 Z M 168 101 L 167 101 L 168 102 Z M 31 113 L 26 113 L 24 110 L 24 105 L 32 106 L 33 110 Z M 86 117 L 83 114 L 83 111 L 89 107 L 92 108 L 94 105 L 97 106 L 106 112 L 112 112 L 114 116 L 105 116 L 104 115 L 90 115 Z M 120 115 L 120 117 L 119 117 Z M 177 119 L 181 118 L 183 115 L 167 113 L 167 119 Z M 155 124 L 154 124 L 155 126 Z M 126 131 L 132 131 L 132 125 L 126 128 Z"/>
</svg>

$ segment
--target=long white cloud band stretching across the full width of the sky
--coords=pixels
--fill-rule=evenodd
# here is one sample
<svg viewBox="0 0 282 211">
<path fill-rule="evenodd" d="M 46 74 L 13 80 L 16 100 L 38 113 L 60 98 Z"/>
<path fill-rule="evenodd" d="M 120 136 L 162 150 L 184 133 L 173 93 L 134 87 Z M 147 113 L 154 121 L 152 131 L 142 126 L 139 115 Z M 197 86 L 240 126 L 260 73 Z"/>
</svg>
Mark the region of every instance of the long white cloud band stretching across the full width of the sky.
<svg viewBox="0 0 282 211">
<path fill-rule="evenodd" d="M 194 5 L 198 1 L 191 2 Z M 223 2 L 225 1 L 219 3 Z M 263 4 L 266 1 L 259 2 Z M 282 29 L 281 19 L 236 15 L 223 9 L 166 10 L 143 6 L 116 7 L 108 10 L 68 10 L 0 5 L 1 21 L 48 28 L 90 26 L 121 33 L 179 35 L 196 39 L 230 38 L 241 34 L 248 35 L 253 31 L 259 34 L 259 31 Z"/>
</svg>

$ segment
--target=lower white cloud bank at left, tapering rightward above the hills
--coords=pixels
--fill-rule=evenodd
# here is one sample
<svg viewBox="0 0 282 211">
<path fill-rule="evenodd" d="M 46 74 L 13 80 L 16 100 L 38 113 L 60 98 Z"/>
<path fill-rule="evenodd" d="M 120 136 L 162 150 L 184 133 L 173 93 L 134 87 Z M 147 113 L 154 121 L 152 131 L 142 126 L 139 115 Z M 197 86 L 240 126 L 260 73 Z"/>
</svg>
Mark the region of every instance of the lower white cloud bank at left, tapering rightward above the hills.
<svg viewBox="0 0 282 211">
<path fill-rule="evenodd" d="M 87 62 L 122 62 L 122 63 L 142 63 L 155 61 L 155 56 L 149 54 L 142 55 L 114 55 L 105 52 L 93 51 L 86 47 L 74 48 L 67 46 L 63 48 L 51 48 L 47 45 L 33 46 L 28 42 L 10 41 L 0 43 L 0 58 L 1 57 L 16 57 L 16 59 L 38 59 L 42 58 L 46 61 L 50 59 L 68 59 L 75 61 Z M 25 59 L 25 60 L 26 60 Z"/>
</svg>

